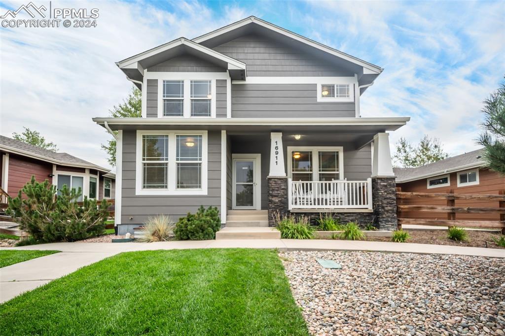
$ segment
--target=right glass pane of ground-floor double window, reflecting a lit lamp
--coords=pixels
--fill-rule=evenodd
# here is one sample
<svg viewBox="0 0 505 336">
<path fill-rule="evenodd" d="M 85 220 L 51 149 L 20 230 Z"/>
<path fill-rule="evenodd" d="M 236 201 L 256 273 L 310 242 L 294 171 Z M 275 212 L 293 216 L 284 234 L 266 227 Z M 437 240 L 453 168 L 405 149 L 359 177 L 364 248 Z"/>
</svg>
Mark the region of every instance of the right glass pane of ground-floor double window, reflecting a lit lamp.
<svg viewBox="0 0 505 336">
<path fill-rule="evenodd" d="M 201 188 L 202 136 L 176 136 L 177 189 Z"/>
</svg>

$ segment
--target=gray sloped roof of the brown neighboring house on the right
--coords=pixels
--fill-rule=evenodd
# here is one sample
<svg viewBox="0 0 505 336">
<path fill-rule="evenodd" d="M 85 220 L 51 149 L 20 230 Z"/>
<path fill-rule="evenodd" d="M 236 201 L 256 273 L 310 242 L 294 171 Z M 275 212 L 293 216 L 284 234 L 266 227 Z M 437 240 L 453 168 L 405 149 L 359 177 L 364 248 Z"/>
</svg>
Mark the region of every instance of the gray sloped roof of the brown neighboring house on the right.
<svg viewBox="0 0 505 336">
<path fill-rule="evenodd" d="M 416 181 L 452 172 L 464 171 L 485 165 L 484 149 L 448 157 L 444 160 L 414 168 L 394 168 L 397 183 Z"/>
</svg>

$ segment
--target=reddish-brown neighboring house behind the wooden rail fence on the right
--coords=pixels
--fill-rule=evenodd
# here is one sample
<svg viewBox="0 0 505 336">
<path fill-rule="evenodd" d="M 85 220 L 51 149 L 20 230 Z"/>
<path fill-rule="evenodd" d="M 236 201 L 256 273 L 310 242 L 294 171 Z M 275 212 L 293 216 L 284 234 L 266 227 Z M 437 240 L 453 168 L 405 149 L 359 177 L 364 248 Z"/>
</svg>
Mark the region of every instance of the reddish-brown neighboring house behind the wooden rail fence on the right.
<svg viewBox="0 0 505 336">
<path fill-rule="evenodd" d="M 491 194 L 505 190 L 505 177 L 485 167 L 483 149 L 415 168 L 394 168 L 401 191 L 420 193 Z M 416 199 L 415 204 L 446 205 L 444 200 Z M 497 201 L 456 200 L 456 206 L 497 207 Z M 447 219 L 446 213 L 409 211 L 408 218 Z M 457 213 L 456 219 L 499 220 L 498 213 Z"/>
</svg>

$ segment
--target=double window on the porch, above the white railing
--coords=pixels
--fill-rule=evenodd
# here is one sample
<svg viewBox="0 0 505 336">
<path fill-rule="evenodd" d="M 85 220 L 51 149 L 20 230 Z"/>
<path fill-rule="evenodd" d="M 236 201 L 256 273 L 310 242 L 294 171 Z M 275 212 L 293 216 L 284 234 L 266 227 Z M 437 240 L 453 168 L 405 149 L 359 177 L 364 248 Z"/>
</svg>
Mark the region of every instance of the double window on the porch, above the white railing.
<svg viewBox="0 0 505 336">
<path fill-rule="evenodd" d="M 342 180 L 341 147 L 288 147 L 289 175 L 293 181 Z"/>
</svg>

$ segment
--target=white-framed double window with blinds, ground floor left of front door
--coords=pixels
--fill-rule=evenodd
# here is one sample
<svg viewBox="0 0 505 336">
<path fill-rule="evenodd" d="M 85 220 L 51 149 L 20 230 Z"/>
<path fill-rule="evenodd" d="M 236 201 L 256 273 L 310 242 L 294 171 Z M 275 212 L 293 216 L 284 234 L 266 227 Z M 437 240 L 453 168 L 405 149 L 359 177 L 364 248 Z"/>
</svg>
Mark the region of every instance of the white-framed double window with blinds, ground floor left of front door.
<svg viewBox="0 0 505 336">
<path fill-rule="evenodd" d="M 206 131 L 137 131 L 137 139 L 138 195 L 207 192 Z"/>
</svg>

